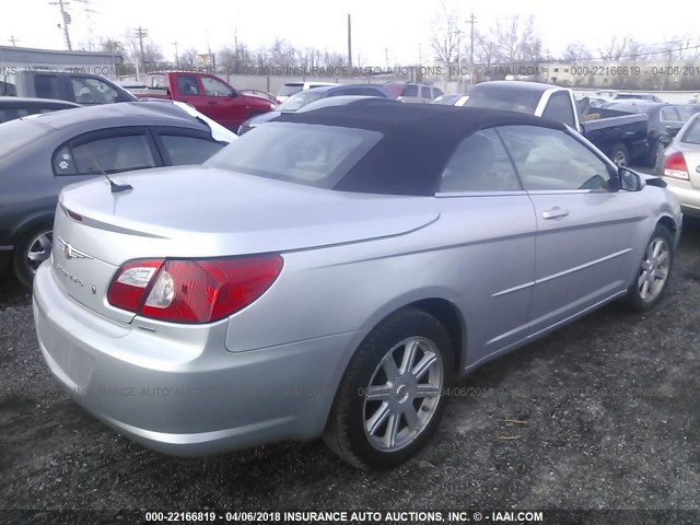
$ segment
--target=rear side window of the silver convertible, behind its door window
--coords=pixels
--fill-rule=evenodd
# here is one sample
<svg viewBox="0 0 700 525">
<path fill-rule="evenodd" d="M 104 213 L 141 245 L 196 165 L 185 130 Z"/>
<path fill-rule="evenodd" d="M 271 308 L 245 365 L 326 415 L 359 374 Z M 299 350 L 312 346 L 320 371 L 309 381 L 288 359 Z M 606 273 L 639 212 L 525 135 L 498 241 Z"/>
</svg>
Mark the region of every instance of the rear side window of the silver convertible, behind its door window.
<svg viewBox="0 0 700 525">
<path fill-rule="evenodd" d="M 439 192 L 523 189 L 501 139 L 493 129 L 464 139 L 447 162 Z"/>
</svg>

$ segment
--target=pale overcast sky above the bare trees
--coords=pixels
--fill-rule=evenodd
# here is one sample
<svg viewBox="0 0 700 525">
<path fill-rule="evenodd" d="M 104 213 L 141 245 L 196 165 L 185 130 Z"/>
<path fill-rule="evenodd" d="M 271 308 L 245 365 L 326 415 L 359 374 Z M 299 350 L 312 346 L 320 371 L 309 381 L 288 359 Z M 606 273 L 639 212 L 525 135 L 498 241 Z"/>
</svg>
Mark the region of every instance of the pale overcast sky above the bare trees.
<svg viewBox="0 0 700 525">
<path fill-rule="evenodd" d="M 352 14 L 353 57 L 364 66 L 385 66 L 386 55 L 394 65 L 432 59 L 430 49 L 431 19 L 442 10 L 441 1 L 427 0 L 88 0 L 95 12 L 88 15 L 85 3 L 69 0 L 73 49 L 88 48 L 90 40 L 124 40 L 137 26 L 149 31 L 149 37 L 161 46 L 166 59 L 174 60 L 174 42 L 178 50 L 195 47 L 206 52 L 207 46 L 218 50 L 238 40 L 252 49 L 270 44 L 275 37 L 299 46 L 345 52 L 347 15 Z M 18 39 L 21 47 L 66 49 L 57 5 L 48 0 L 7 1 L 0 16 L 0 45 Z M 545 0 L 445 0 L 456 5 L 466 20 L 477 16 L 477 28 L 486 30 L 497 19 L 510 14 L 535 16 L 542 36 L 544 49 L 559 55 L 572 40 L 581 40 L 596 55 L 615 35 L 632 37 L 645 44 L 698 36 L 700 2 L 676 3 L 674 8 L 644 7 L 629 9 L 626 2 L 585 0 L 580 2 Z M 89 18 L 90 16 L 90 20 Z M 465 31 L 468 25 L 465 24 Z M 97 49 L 95 49 L 97 50 Z"/>
</svg>

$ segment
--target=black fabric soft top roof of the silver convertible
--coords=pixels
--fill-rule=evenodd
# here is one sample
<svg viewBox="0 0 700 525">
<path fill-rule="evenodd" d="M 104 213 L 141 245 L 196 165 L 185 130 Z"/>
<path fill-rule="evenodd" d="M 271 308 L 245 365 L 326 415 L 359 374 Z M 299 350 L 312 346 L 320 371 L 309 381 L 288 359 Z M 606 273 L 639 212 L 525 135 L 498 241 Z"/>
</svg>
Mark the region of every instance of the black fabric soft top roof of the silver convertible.
<svg viewBox="0 0 700 525">
<path fill-rule="evenodd" d="M 561 122 L 520 113 L 439 104 L 397 104 L 384 98 L 282 114 L 277 121 L 380 131 L 383 139 L 334 189 L 393 195 L 433 195 L 439 177 L 459 142 L 480 129 L 495 126 L 565 129 Z"/>
</svg>

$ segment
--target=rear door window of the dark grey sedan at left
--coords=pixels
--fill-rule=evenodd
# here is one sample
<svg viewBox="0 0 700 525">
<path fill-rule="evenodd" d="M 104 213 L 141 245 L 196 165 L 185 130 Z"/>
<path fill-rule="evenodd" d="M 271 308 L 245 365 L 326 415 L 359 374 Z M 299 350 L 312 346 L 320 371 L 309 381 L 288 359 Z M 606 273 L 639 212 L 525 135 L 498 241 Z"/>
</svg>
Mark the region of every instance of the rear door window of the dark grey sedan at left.
<svg viewBox="0 0 700 525">
<path fill-rule="evenodd" d="M 66 145 L 54 154 L 56 175 L 98 175 L 155 167 L 145 133 L 101 136 L 77 145 Z"/>
</svg>

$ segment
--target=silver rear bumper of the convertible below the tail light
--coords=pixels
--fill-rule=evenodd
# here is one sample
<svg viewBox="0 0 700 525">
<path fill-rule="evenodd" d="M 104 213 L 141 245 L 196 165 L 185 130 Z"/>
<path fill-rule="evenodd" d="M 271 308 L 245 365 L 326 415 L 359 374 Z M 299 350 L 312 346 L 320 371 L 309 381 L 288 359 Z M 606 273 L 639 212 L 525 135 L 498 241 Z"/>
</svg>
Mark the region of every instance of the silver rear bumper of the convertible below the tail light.
<svg viewBox="0 0 700 525">
<path fill-rule="evenodd" d="M 343 355 L 361 336 L 232 353 L 224 320 L 183 327 L 188 334 L 177 343 L 84 308 L 60 291 L 48 264 L 34 281 L 34 317 L 46 363 L 78 404 L 133 441 L 175 455 L 319 435 Z"/>
</svg>

